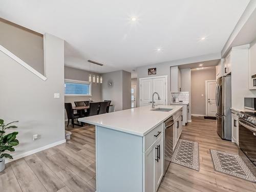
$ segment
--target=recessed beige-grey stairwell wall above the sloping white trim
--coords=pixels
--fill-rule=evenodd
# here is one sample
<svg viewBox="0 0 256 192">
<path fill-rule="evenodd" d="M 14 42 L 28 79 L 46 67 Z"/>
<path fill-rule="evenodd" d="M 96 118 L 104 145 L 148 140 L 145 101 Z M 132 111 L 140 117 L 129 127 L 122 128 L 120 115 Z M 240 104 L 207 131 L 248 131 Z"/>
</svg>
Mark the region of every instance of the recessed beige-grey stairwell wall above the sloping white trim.
<svg viewBox="0 0 256 192">
<path fill-rule="evenodd" d="M 44 74 L 43 35 L 0 18 L 0 45 Z"/>
</svg>

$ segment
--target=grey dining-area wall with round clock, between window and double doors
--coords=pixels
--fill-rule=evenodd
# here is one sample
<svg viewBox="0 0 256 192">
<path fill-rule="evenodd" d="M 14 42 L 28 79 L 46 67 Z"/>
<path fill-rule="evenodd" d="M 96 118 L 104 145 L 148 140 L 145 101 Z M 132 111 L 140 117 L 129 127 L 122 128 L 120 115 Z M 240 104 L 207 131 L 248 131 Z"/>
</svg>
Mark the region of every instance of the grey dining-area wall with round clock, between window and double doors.
<svg viewBox="0 0 256 192">
<path fill-rule="evenodd" d="M 124 78 L 123 78 L 124 77 Z M 130 80 L 127 79 L 130 77 Z M 127 89 L 130 89 L 129 98 L 131 98 L 131 73 L 128 72 L 114 71 L 110 73 L 102 74 L 103 83 L 102 88 L 102 99 L 103 100 L 112 100 L 112 104 L 115 105 L 115 111 L 120 111 L 127 109 L 127 99 L 123 102 L 123 92 L 127 94 Z M 112 82 L 112 86 L 108 86 L 108 82 Z M 125 82 L 123 82 L 125 81 Z M 130 82 L 130 83 L 129 83 Z M 125 86 L 123 88 L 123 86 Z M 128 93 L 129 94 L 129 93 Z M 130 108 L 131 108 L 131 99 L 130 99 Z"/>
</svg>

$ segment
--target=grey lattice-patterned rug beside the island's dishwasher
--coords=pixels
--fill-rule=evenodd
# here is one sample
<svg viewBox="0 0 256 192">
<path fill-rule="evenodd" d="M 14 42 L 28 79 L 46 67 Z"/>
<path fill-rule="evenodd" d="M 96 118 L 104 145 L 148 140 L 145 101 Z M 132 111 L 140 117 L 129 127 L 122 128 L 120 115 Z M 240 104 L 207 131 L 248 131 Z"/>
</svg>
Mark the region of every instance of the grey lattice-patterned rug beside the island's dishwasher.
<svg viewBox="0 0 256 192">
<path fill-rule="evenodd" d="M 175 148 L 172 162 L 199 171 L 198 142 L 180 139 Z"/>
</svg>

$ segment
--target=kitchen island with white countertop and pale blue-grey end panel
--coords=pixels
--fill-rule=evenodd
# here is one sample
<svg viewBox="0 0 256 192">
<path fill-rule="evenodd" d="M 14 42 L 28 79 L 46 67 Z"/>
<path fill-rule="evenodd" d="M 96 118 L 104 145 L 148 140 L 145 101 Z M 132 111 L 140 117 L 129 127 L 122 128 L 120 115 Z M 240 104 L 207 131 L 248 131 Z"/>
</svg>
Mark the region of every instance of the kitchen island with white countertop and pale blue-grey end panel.
<svg viewBox="0 0 256 192">
<path fill-rule="evenodd" d="M 181 122 L 182 106 L 161 108 L 172 110 L 152 111 L 151 106 L 141 106 L 78 119 L 96 125 L 98 192 L 157 191 L 164 172 L 164 121 L 177 116 Z"/>
</svg>

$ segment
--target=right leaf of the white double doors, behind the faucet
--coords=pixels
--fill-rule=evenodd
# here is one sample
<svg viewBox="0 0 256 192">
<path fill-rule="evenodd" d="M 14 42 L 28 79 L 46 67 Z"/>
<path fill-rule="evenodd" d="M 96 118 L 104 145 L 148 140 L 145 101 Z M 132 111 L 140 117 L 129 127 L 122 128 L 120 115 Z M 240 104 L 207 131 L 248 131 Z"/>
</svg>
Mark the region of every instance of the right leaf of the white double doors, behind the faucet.
<svg viewBox="0 0 256 192">
<path fill-rule="evenodd" d="M 152 93 L 157 92 L 160 96 L 160 100 L 158 100 L 158 96 L 155 94 L 154 100 L 156 104 L 166 104 L 165 83 L 165 77 L 155 78 L 152 81 Z"/>
</svg>

